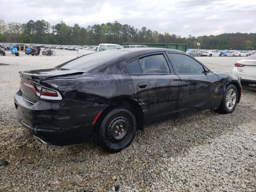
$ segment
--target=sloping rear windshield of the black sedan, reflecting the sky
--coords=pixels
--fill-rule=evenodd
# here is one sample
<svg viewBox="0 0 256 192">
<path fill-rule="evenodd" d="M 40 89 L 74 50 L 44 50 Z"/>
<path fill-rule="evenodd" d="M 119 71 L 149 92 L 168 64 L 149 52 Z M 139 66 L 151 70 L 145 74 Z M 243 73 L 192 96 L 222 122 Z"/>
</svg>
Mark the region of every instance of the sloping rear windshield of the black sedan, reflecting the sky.
<svg viewBox="0 0 256 192">
<path fill-rule="evenodd" d="M 121 50 L 95 52 L 95 53 L 81 56 L 75 60 L 68 62 L 67 64 L 60 65 L 57 67 L 82 70 L 87 72 L 115 58 L 119 58 L 121 55 L 126 53 L 128 52 L 121 51 Z"/>
</svg>

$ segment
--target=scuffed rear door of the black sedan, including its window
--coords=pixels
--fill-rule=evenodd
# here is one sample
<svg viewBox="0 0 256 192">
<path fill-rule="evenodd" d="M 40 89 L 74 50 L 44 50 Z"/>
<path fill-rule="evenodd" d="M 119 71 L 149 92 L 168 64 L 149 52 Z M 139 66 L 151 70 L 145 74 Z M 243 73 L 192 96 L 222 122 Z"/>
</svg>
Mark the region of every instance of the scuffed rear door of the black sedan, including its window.
<svg viewBox="0 0 256 192">
<path fill-rule="evenodd" d="M 181 99 L 181 81 L 169 68 L 164 52 L 146 54 L 126 62 L 145 126 L 174 119 Z"/>
</svg>

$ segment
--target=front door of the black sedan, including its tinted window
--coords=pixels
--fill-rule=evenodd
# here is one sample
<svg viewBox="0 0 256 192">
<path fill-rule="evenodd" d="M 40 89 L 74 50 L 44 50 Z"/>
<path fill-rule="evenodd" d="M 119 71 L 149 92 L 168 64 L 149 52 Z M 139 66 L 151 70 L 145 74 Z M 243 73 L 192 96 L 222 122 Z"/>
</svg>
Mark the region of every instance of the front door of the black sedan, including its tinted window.
<svg viewBox="0 0 256 192">
<path fill-rule="evenodd" d="M 179 116 L 215 108 L 218 78 L 194 58 L 179 53 L 167 53 L 174 72 L 182 83 L 182 100 Z"/>
</svg>

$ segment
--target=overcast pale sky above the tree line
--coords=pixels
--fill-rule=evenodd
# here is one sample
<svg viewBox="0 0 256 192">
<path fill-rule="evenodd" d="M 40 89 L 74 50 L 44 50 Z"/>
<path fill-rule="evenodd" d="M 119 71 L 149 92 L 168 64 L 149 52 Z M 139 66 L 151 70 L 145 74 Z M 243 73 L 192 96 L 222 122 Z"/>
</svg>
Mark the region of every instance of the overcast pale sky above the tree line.
<svg viewBox="0 0 256 192">
<path fill-rule="evenodd" d="M 118 21 L 182 37 L 256 32 L 256 0 L 1 0 L 0 13 L 6 23 Z"/>
</svg>

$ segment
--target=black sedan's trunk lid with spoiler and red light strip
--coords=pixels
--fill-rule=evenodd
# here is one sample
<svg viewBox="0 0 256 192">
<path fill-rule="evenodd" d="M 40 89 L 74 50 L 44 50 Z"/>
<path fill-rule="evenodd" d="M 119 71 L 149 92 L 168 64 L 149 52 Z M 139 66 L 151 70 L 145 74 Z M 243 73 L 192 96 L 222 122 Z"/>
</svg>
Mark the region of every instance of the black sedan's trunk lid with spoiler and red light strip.
<svg viewBox="0 0 256 192">
<path fill-rule="evenodd" d="M 79 70 L 69 70 L 62 68 L 19 72 L 21 78 L 20 90 L 22 92 L 22 97 L 25 98 L 28 102 L 36 103 L 40 98 L 41 81 L 58 76 L 69 76 L 83 73 L 83 71 Z"/>
</svg>

